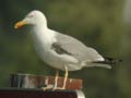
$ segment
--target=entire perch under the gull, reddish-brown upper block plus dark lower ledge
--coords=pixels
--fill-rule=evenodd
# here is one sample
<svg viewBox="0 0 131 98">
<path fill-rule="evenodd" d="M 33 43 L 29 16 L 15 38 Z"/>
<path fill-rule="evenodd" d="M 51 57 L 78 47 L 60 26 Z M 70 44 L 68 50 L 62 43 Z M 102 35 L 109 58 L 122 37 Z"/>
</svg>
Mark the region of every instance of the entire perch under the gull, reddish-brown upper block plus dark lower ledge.
<svg viewBox="0 0 131 98">
<path fill-rule="evenodd" d="M 33 74 L 11 74 L 11 87 L 0 88 L 0 98 L 85 98 L 82 79 L 68 78 L 64 90 L 43 90 L 41 87 L 52 86 L 55 76 Z M 58 87 L 63 84 L 63 77 L 58 78 Z"/>
</svg>

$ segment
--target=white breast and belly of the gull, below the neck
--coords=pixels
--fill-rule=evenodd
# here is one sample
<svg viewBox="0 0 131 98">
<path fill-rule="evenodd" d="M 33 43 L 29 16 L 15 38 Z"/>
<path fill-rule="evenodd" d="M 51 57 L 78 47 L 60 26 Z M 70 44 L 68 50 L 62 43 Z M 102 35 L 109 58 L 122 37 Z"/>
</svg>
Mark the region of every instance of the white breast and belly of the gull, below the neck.
<svg viewBox="0 0 131 98">
<path fill-rule="evenodd" d="M 79 62 L 75 58 L 57 54 L 51 49 L 51 44 L 57 41 L 53 30 L 46 30 L 46 33 L 39 30 L 36 33 L 35 29 L 32 36 L 35 50 L 44 62 L 59 70 L 64 70 L 64 65 L 68 65 L 71 70 L 75 70 L 73 64 Z"/>
</svg>

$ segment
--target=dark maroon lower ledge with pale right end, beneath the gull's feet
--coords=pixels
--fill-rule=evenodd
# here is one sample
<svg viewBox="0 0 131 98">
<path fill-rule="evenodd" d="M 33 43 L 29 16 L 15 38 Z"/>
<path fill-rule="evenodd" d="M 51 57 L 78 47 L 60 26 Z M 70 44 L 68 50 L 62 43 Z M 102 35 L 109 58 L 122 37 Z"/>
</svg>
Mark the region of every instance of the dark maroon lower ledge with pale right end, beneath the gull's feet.
<svg viewBox="0 0 131 98">
<path fill-rule="evenodd" d="M 85 98 L 81 90 L 0 88 L 0 98 Z"/>
</svg>

